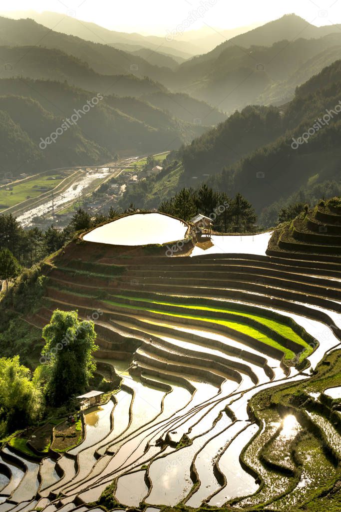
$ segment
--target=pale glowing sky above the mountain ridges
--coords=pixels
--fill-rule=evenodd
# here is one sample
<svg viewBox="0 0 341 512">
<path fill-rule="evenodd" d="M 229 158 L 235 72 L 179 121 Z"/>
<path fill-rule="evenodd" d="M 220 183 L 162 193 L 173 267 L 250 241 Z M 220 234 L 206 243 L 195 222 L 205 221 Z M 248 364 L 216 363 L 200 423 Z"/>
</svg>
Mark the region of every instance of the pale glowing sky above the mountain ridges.
<svg viewBox="0 0 341 512">
<path fill-rule="evenodd" d="M 191 13 L 196 21 L 190 21 L 189 30 L 262 24 L 288 13 L 317 26 L 341 24 L 341 0 L 11 0 L 0 6 L 3 13 L 54 11 L 110 30 L 155 35 L 176 29 Z"/>
</svg>

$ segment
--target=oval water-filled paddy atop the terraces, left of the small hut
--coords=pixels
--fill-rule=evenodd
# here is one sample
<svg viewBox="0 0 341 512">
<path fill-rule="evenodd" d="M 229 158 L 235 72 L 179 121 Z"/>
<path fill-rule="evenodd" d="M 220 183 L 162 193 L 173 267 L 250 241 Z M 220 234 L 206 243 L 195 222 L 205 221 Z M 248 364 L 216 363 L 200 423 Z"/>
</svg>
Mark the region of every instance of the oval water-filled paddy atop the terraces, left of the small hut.
<svg viewBox="0 0 341 512">
<path fill-rule="evenodd" d="M 166 244 L 183 240 L 187 224 L 162 214 L 134 214 L 121 217 L 87 233 L 86 242 L 110 245 Z"/>
</svg>

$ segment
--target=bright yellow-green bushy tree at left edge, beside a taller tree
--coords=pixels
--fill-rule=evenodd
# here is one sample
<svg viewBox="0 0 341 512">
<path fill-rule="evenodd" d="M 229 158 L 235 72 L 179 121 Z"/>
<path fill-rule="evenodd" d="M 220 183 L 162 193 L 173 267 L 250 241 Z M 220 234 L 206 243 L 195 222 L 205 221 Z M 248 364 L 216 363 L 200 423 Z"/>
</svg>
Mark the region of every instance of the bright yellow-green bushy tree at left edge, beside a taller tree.
<svg viewBox="0 0 341 512">
<path fill-rule="evenodd" d="M 37 377 L 37 376 L 36 376 Z M 13 432 L 33 421 L 41 406 L 39 381 L 19 356 L 0 358 L 0 431 Z"/>
</svg>

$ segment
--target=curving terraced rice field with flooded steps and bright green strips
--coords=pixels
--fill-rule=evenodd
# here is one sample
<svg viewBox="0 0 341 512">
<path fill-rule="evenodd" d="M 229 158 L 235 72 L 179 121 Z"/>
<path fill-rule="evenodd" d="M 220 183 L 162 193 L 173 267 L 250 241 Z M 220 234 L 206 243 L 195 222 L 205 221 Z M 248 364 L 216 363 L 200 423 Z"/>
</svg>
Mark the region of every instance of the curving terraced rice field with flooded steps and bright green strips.
<svg viewBox="0 0 341 512">
<path fill-rule="evenodd" d="M 317 389 L 309 366 L 340 347 L 339 263 L 167 258 L 85 241 L 53 263 L 30 321 L 42 327 L 56 308 L 99 311 L 96 357 L 122 384 L 85 413 L 86 437 L 69 453 L 39 466 L 2 452 L 0 510 L 84 512 L 106 496 L 108 508 L 147 512 L 226 503 L 284 511 L 333 487 L 341 421 L 312 395 L 341 382 L 326 377 Z M 310 397 L 306 412 L 289 407 L 298 386 Z M 285 390 L 288 406 L 277 407 Z"/>
</svg>

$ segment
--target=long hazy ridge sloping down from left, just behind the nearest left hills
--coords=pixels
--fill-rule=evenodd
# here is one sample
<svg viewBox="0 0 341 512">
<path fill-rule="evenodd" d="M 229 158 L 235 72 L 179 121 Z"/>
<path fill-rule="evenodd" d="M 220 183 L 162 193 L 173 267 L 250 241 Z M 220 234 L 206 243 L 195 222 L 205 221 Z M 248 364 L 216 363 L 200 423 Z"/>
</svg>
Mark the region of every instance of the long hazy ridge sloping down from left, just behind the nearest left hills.
<svg viewBox="0 0 341 512">
<path fill-rule="evenodd" d="M 0 78 L 14 76 L 67 81 L 83 90 L 96 91 L 103 95 L 144 97 L 157 108 L 167 110 L 172 117 L 191 123 L 200 118 L 203 125 L 214 125 L 226 118 L 209 104 L 188 95 L 171 93 L 162 84 L 149 78 L 138 78 L 132 74 L 100 75 L 85 62 L 60 50 L 0 47 L 0 58 L 4 62 L 14 62 L 13 69 L 0 69 Z M 134 113 L 131 115 L 134 116 Z"/>
</svg>

